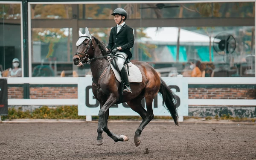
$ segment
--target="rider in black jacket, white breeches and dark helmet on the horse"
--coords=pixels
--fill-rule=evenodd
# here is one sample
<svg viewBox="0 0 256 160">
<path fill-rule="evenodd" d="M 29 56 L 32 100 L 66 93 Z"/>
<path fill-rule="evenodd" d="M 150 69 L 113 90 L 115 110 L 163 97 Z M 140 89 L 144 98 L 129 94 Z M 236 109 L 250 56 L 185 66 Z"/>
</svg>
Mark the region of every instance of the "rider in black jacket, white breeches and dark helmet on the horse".
<svg viewBox="0 0 256 160">
<path fill-rule="evenodd" d="M 117 8 L 111 15 L 114 16 L 117 25 L 111 29 L 106 50 L 113 49 L 112 54 L 122 54 L 125 59 L 131 59 L 132 54 L 130 48 L 134 45 L 134 34 L 133 29 L 125 24 L 127 12 L 122 8 Z M 122 55 L 119 56 L 122 57 Z M 125 60 L 123 58 L 117 58 L 117 66 L 121 72 L 122 80 L 124 81 L 123 94 L 128 94 L 132 92 L 124 63 Z"/>
</svg>

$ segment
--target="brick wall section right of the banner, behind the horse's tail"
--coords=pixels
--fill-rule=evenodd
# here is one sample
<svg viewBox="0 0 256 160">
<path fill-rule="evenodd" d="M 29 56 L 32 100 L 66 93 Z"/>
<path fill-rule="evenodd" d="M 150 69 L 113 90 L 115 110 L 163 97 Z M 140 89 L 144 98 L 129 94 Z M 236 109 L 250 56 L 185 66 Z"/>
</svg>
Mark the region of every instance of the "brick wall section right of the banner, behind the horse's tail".
<svg viewBox="0 0 256 160">
<path fill-rule="evenodd" d="M 189 99 L 256 99 L 256 89 L 189 88 Z"/>
</svg>

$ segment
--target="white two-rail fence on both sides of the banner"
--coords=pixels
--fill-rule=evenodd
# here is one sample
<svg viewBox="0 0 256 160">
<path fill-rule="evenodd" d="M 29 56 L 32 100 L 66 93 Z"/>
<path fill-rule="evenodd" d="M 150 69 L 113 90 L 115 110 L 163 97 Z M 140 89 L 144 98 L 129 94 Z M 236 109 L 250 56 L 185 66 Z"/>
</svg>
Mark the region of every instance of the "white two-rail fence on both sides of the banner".
<svg viewBox="0 0 256 160">
<path fill-rule="evenodd" d="M 91 79 L 88 77 L 88 79 Z M 173 78 L 170 78 L 173 79 Z M 256 78 L 185 78 L 188 84 L 256 84 Z M 8 78 L 8 84 L 78 84 L 73 77 Z M 78 105 L 78 99 L 8 99 L 8 105 Z M 256 99 L 189 99 L 189 105 L 256 106 Z M 91 116 L 86 118 L 91 121 Z M 183 121 L 183 117 L 180 117 Z"/>
</svg>

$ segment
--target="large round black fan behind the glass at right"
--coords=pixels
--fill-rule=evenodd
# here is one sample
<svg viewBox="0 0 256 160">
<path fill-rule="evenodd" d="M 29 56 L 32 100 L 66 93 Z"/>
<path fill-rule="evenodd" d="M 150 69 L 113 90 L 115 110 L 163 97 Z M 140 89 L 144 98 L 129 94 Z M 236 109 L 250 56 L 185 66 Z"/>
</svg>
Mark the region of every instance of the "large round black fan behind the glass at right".
<svg viewBox="0 0 256 160">
<path fill-rule="evenodd" d="M 229 33 L 221 32 L 215 36 L 213 48 L 219 55 L 232 54 L 236 49 L 236 39 Z"/>
</svg>

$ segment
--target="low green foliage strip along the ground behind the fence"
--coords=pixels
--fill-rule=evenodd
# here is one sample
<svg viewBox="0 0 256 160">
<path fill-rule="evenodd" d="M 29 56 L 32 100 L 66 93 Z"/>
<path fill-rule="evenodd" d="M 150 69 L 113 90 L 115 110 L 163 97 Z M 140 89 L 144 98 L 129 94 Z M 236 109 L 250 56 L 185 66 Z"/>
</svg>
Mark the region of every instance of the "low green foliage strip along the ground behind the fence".
<svg viewBox="0 0 256 160">
<path fill-rule="evenodd" d="M 201 119 L 197 116 L 183 116 L 183 119 Z M 22 111 L 21 107 L 18 109 L 9 108 L 8 116 L 1 116 L 2 120 L 12 120 L 12 119 L 85 119 L 85 116 L 78 115 L 77 106 L 59 106 L 54 108 L 49 108 L 48 106 L 42 106 L 41 108 L 36 108 L 34 111 Z M 92 119 L 97 120 L 99 116 L 93 116 Z M 110 120 L 119 120 L 119 119 L 134 119 L 141 120 L 140 116 L 109 116 Z M 172 119 L 172 116 L 154 116 L 154 119 Z M 212 119 L 211 116 L 207 116 L 206 120 Z M 229 119 L 233 121 L 242 121 L 249 120 L 247 117 L 232 117 L 230 114 L 223 114 L 220 118 L 218 115 L 215 116 L 215 119 Z M 256 119 L 250 119 L 251 122 L 255 122 Z"/>
</svg>

